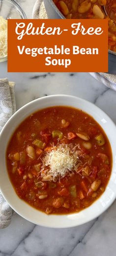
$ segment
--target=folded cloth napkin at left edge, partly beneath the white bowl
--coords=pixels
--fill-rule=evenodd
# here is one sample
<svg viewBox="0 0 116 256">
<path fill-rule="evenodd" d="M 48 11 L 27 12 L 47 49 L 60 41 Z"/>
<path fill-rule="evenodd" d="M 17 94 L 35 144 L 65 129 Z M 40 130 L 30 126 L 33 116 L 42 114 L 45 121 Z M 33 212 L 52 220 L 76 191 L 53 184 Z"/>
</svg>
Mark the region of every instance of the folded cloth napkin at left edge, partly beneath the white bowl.
<svg viewBox="0 0 116 256">
<path fill-rule="evenodd" d="M 15 83 L 7 78 L 0 79 L 0 131 L 10 116 L 16 111 Z M 11 222 L 13 211 L 0 193 L 0 228 Z"/>
</svg>

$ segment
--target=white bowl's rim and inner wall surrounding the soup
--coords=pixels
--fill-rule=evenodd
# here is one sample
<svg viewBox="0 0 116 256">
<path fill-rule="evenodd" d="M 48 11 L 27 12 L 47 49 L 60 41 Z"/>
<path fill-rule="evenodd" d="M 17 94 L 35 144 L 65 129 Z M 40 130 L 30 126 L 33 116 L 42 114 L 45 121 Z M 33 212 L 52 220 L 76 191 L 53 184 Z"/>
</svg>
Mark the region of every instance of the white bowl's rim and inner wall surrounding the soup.
<svg viewBox="0 0 116 256">
<path fill-rule="evenodd" d="M 84 110 L 90 114 L 105 131 L 113 152 L 113 168 L 110 181 L 106 187 L 102 196 L 96 200 L 91 206 L 85 210 L 68 215 L 46 215 L 21 200 L 9 178 L 6 168 L 5 153 L 7 144 L 11 138 L 12 133 L 17 126 L 27 117 L 29 114 L 36 110 L 44 109 L 51 106 L 71 106 L 77 109 Z M 0 133 L 0 190 L 9 203 L 9 205 L 21 215 L 23 218 L 29 221 L 47 227 L 65 228 L 81 225 L 95 219 L 102 214 L 115 200 L 116 198 L 116 126 L 109 116 L 95 105 L 68 95 L 52 95 L 37 99 L 25 105 L 18 110 L 5 124 Z"/>
</svg>

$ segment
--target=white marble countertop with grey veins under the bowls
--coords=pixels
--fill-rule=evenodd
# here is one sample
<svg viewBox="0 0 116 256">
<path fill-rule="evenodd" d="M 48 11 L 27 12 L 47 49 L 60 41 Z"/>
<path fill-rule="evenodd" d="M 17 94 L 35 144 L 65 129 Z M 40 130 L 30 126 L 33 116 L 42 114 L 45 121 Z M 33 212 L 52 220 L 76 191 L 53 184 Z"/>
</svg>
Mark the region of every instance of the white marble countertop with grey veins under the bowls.
<svg viewBox="0 0 116 256">
<path fill-rule="evenodd" d="M 35 0 L 19 2 L 31 18 Z M 5 62 L 0 63 L 4 77 L 16 82 L 17 109 L 45 95 L 71 94 L 94 103 L 116 123 L 116 92 L 89 73 L 7 73 Z M 78 227 L 45 228 L 15 214 L 10 226 L 0 230 L 0 256 L 85 255 L 116 256 L 116 201 L 99 218 Z"/>
</svg>

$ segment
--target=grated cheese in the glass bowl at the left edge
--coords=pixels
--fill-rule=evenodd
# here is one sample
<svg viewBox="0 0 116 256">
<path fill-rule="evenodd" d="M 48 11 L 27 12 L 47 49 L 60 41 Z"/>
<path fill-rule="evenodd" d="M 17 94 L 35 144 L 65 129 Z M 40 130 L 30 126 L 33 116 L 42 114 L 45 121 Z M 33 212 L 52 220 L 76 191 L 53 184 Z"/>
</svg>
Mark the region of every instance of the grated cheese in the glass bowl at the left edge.
<svg viewBox="0 0 116 256">
<path fill-rule="evenodd" d="M 7 56 L 7 20 L 0 16 L 0 58 Z"/>
</svg>

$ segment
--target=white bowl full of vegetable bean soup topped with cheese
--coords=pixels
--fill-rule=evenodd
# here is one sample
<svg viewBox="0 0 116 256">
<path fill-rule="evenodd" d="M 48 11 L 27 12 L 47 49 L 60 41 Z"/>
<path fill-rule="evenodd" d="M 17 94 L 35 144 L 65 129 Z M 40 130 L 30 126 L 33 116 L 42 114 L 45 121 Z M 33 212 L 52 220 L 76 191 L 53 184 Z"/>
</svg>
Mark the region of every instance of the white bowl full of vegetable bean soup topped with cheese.
<svg viewBox="0 0 116 256">
<path fill-rule="evenodd" d="M 0 145 L 0 191 L 33 223 L 77 226 L 116 198 L 116 126 L 83 99 L 30 102 L 5 124 Z"/>
</svg>

